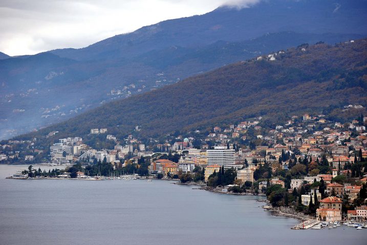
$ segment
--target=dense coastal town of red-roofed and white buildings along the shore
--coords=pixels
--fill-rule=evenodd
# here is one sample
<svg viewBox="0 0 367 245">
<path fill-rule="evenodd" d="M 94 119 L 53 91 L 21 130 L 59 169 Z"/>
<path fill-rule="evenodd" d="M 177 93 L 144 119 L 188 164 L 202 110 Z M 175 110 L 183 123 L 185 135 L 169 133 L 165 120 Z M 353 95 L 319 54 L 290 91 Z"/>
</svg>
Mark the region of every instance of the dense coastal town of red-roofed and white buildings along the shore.
<svg viewBox="0 0 367 245">
<path fill-rule="evenodd" d="M 360 109 L 348 105 L 343 110 Z M 319 221 L 367 219 L 367 117 L 361 113 L 339 123 L 329 115 L 304 114 L 278 125 L 263 121 L 257 117 L 205 132 L 146 139 L 135 136 L 140 126 L 122 139 L 108 128 L 93 128 L 87 142 L 78 136 L 60 138 L 49 149 L 38 148 L 36 138 L 8 140 L 0 146 L 0 160 L 56 166 L 52 172 L 30 166 L 13 178 L 134 174 L 220 193 L 266 195 L 272 208 Z M 68 167 L 58 170 L 58 165 Z"/>
</svg>

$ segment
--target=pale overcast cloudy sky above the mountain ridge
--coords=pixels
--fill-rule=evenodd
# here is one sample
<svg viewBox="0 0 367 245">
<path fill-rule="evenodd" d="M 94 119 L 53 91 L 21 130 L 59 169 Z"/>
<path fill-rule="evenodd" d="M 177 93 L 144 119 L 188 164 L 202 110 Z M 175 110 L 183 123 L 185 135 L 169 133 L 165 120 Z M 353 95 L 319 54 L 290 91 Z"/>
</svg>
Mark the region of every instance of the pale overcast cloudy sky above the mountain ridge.
<svg viewBox="0 0 367 245">
<path fill-rule="evenodd" d="M 82 48 L 166 19 L 258 0 L 0 0 L 0 52 Z"/>
</svg>

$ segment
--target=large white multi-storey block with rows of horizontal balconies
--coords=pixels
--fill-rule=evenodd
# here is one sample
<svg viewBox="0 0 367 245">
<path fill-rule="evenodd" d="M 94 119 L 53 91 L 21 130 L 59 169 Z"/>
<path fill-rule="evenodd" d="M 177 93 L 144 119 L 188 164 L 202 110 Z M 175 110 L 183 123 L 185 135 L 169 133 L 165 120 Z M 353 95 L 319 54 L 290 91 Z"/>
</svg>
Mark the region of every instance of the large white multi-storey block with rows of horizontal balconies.
<svg viewBox="0 0 367 245">
<path fill-rule="evenodd" d="M 234 168 L 234 150 L 226 147 L 214 147 L 214 150 L 207 150 L 208 165 L 219 165 L 224 168 Z"/>
</svg>

